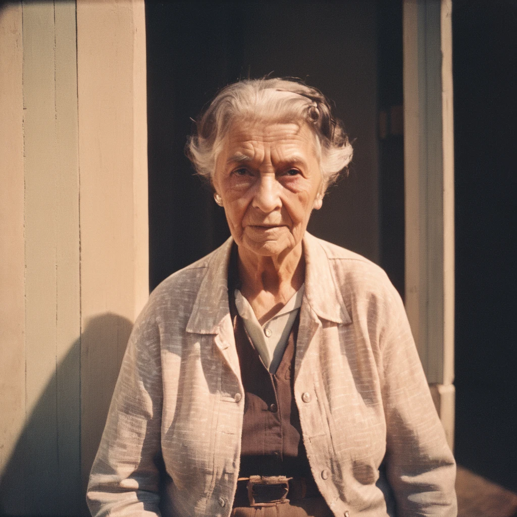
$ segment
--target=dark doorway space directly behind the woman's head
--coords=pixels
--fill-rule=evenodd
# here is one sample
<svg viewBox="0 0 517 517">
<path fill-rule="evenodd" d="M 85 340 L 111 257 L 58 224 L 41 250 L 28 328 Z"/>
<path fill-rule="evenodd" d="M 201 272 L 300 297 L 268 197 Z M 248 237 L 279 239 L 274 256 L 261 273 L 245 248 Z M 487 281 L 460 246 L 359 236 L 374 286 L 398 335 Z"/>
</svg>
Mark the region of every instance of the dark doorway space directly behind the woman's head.
<svg viewBox="0 0 517 517">
<path fill-rule="evenodd" d="M 320 88 L 354 140 L 349 175 L 309 231 L 381 261 L 378 18 L 374 1 L 146 3 L 151 289 L 229 235 L 184 156 L 190 118 L 226 84 L 268 73 Z"/>
</svg>

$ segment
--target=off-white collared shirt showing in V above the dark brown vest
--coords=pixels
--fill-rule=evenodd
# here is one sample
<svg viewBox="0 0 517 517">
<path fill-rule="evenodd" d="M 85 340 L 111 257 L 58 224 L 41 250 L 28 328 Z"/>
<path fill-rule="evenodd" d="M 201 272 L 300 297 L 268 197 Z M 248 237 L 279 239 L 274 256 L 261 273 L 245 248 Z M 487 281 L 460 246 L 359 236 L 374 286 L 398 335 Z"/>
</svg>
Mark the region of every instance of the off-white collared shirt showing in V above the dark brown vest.
<svg viewBox="0 0 517 517">
<path fill-rule="evenodd" d="M 270 373 L 277 371 L 284 355 L 289 334 L 301 307 L 303 298 L 303 284 L 291 299 L 270 318 L 264 325 L 258 323 L 257 317 L 251 308 L 250 302 L 235 290 L 235 306 L 248 335 Z"/>
</svg>

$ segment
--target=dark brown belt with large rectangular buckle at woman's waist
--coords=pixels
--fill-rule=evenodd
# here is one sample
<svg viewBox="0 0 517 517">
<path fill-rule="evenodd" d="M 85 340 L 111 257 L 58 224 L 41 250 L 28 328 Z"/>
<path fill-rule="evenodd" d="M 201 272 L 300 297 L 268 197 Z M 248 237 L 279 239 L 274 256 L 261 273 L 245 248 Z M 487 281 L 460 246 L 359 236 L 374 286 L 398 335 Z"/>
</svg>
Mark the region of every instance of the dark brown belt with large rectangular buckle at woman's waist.
<svg viewBox="0 0 517 517">
<path fill-rule="evenodd" d="M 321 497 L 312 478 L 250 476 L 238 479 L 234 507 L 275 506 L 305 497 Z"/>
</svg>

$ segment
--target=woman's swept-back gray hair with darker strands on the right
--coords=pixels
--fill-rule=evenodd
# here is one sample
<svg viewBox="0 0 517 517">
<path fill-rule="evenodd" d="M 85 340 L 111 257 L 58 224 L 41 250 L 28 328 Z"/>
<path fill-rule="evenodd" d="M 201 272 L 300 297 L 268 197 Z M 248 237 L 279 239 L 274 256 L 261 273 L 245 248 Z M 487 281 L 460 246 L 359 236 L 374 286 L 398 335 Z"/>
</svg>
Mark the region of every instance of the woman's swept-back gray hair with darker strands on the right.
<svg viewBox="0 0 517 517">
<path fill-rule="evenodd" d="M 225 135 L 233 120 L 305 122 L 320 159 L 322 192 L 352 160 L 352 145 L 341 120 L 333 118 L 320 90 L 288 79 L 247 79 L 223 88 L 196 122 L 186 154 L 197 173 L 211 181 Z"/>
</svg>

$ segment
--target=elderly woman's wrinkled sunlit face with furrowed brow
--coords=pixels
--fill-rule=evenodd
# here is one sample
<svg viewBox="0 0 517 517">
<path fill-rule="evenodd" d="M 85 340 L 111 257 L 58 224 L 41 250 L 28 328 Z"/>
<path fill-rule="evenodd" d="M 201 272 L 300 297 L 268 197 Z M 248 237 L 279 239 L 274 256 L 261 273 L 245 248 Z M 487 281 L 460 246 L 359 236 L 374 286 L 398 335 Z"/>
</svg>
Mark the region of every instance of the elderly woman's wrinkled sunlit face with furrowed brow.
<svg viewBox="0 0 517 517">
<path fill-rule="evenodd" d="M 234 123 L 213 181 L 235 242 L 256 255 L 295 248 L 322 205 L 315 140 L 305 124 Z"/>
</svg>

